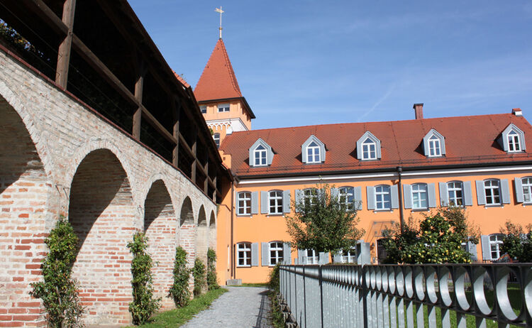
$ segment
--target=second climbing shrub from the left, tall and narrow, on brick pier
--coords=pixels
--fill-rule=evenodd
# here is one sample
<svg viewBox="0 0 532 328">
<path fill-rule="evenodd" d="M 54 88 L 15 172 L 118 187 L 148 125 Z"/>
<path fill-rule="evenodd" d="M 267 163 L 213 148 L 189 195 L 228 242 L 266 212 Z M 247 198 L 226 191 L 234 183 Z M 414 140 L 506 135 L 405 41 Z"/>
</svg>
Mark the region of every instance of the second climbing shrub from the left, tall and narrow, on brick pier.
<svg viewBox="0 0 532 328">
<path fill-rule="evenodd" d="M 131 262 L 133 302 L 129 303 L 129 312 L 133 317 L 133 324 L 144 324 L 160 307 L 160 298 L 153 297 L 151 273 L 153 261 L 146 251 L 148 238 L 142 232 L 137 232 L 133 235 L 133 241 L 128 243 L 128 248 L 133 253 Z"/>
</svg>

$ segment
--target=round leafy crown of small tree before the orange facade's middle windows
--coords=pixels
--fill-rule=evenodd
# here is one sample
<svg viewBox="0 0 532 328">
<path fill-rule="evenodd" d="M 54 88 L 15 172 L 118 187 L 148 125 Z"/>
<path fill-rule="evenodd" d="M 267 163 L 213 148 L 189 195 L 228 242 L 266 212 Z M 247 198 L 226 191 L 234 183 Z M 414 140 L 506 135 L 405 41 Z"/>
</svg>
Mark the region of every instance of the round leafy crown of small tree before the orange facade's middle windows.
<svg viewBox="0 0 532 328">
<path fill-rule="evenodd" d="M 337 252 L 355 246 L 363 230 L 357 228 L 358 204 L 348 204 L 345 196 L 331 196 L 331 186 L 318 183 L 311 195 L 292 202 L 287 230 L 292 246 L 318 252 Z"/>
</svg>

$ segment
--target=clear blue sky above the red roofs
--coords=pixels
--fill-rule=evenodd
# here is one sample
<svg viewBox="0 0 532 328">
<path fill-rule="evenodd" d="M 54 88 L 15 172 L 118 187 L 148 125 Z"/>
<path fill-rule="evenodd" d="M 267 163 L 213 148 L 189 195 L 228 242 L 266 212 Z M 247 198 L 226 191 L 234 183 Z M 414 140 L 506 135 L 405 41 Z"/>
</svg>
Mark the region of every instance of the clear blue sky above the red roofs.
<svg viewBox="0 0 532 328">
<path fill-rule="evenodd" d="M 532 119 L 532 1 L 130 0 L 195 87 L 218 39 L 253 129 L 509 113 Z"/>
</svg>

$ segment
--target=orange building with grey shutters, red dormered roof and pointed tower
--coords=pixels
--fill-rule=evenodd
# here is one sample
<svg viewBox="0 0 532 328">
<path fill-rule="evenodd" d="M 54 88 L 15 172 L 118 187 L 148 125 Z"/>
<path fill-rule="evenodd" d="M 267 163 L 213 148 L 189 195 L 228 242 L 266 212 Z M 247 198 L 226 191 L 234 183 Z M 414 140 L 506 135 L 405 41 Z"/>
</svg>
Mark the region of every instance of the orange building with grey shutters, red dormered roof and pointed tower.
<svg viewBox="0 0 532 328">
<path fill-rule="evenodd" d="M 209 63 L 218 55 L 228 62 L 221 40 Z M 227 62 L 216 70 L 231 67 Z M 208 64 L 206 70 L 213 67 Z M 277 262 L 356 261 L 351 252 L 331 256 L 287 244 L 284 216 L 291 215 L 291 204 L 307 197 L 318 182 L 333 186 L 335 196 L 345 195 L 358 207 L 358 227 L 365 230 L 363 240 L 370 244 L 374 263 L 382 256 L 379 239 L 385 228 L 450 203 L 465 207 L 467 217 L 480 227 L 480 243 L 465 245 L 474 261 L 502 255 L 499 229 L 504 222 L 532 222 L 532 155 L 526 151 L 532 147 L 532 126 L 521 109 L 423 119 L 423 104 L 415 104 L 412 120 L 253 131 L 250 119 L 255 116 L 245 99 L 238 102 L 234 97 L 230 109 L 219 112 L 235 94 L 224 98 L 201 91 L 206 85 L 223 84 L 232 85 L 234 92 L 238 84 L 232 68 L 230 74 L 209 75 L 225 80 L 215 84 L 200 79 L 194 90 L 196 97 L 201 94 L 200 104 L 207 104 L 207 123 L 222 117 L 249 122 L 245 130 L 226 133 L 226 128 L 220 138 L 219 151 L 235 177 L 218 209 L 221 283 L 265 282 Z"/>
</svg>

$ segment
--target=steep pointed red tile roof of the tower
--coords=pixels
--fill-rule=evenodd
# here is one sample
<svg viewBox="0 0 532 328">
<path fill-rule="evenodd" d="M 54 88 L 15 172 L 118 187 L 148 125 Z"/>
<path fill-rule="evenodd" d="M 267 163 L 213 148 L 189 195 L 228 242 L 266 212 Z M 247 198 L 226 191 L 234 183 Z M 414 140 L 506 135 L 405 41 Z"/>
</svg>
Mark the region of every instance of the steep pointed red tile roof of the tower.
<svg viewBox="0 0 532 328">
<path fill-rule="evenodd" d="M 199 77 L 194 96 L 198 102 L 242 97 L 222 39 L 218 39 L 211 58 Z"/>
</svg>

